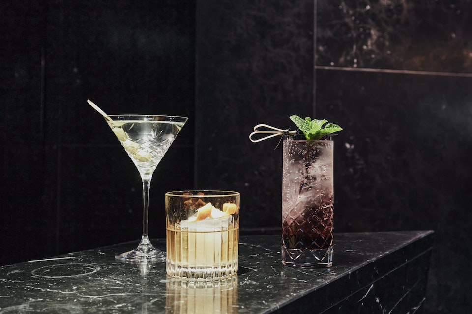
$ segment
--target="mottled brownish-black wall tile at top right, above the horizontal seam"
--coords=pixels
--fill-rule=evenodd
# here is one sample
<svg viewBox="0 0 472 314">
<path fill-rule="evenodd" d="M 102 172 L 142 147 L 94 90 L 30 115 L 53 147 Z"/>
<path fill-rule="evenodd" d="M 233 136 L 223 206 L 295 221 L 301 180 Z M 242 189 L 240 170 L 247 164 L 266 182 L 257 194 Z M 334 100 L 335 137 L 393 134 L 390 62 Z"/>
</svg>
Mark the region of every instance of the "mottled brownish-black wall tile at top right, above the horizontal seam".
<svg viewBox="0 0 472 314">
<path fill-rule="evenodd" d="M 472 71 L 472 2 L 318 0 L 318 66 Z"/>
</svg>

